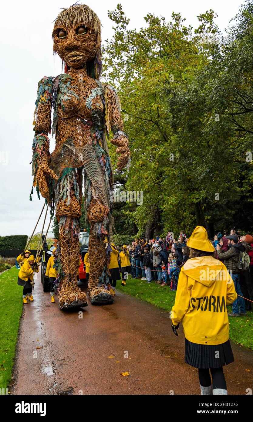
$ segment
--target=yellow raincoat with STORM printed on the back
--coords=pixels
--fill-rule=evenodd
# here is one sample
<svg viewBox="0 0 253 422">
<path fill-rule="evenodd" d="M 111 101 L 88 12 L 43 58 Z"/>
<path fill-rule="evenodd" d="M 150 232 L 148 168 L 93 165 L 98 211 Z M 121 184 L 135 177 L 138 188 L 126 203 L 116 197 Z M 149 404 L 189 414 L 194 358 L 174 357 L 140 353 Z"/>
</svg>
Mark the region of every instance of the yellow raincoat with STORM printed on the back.
<svg viewBox="0 0 253 422">
<path fill-rule="evenodd" d="M 182 322 L 192 343 L 225 343 L 229 340 L 226 305 L 236 299 L 234 282 L 221 261 L 211 256 L 191 258 L 180 271 L 172 323 Z"/>
</svg>

